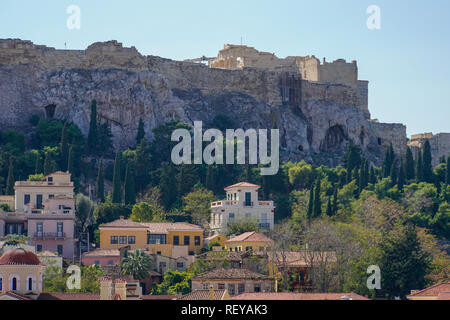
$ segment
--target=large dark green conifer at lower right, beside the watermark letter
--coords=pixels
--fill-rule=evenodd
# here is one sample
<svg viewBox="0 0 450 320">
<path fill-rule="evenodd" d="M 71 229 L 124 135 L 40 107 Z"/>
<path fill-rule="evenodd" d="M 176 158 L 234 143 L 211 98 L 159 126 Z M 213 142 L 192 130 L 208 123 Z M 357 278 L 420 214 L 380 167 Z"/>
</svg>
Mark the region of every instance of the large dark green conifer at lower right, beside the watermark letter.
<svg viewBox="0 0 450 320">
<path fill-rule="evenodd" d="M 381 252 L 381 291 L 388 297 L 404 298 L 411 289 L 425 287 L 430 258 L 414 226 L 394 229 L 383 238 Z"/>
</svg>

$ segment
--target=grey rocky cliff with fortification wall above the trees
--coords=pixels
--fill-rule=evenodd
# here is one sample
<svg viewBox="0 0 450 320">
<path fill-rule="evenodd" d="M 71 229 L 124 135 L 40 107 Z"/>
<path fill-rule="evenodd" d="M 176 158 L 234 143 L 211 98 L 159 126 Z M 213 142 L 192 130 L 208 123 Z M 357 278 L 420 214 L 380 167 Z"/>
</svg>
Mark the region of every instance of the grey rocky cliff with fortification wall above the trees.
<svg viewBox="0 0 450 320">
<path fill-rule="evenodd" d="M 299 72 L 142 56 L 109 41 L 87 50 L 56 50 L 21 40 L 0 40 L 0 124 L 26 131 L 31 115 L 66 119 L 89 130 L 90 102 L 108 120 L 114 146 L 134 145 L 138 119 L 148 139 L 176 119 L 210 124 L 226 114 L 236 127 L 278 128 L 283 159 L 337 165 L 352 139 L 380 164 L 393 144 L 406 148 L 406 128 L 370 119 L 367 82 L 358 85 L 303 79 Z"/>
</svg>

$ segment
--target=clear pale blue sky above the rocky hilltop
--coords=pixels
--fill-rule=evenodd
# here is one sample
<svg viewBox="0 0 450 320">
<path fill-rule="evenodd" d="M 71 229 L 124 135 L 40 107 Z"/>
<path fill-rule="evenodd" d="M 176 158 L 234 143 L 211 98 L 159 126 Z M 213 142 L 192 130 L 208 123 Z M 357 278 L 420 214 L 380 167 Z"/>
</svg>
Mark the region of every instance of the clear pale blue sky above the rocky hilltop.
<svg viewBox="0 0 450 320">
<path fill-rule="evenodd" d="M 81 29 L 66 27 L 69 5 Z M 369 5 L 381 30 L 366 27 Z M 63 49 L 118 40 L 172 59 L 215 56 L 224 43 L 274 52 L 357 60 L 369 80 L 373 118 L 407 125 L 408 135 L 450 132 L 450 1 L 1 0 L 0 38 Z"/>
</svg>

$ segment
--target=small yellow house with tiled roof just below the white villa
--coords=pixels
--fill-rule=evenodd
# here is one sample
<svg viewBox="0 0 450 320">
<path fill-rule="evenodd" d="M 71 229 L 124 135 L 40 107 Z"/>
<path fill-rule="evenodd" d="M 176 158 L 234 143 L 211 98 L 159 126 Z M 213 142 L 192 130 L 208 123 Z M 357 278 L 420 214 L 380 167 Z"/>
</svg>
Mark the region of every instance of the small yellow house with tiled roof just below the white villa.
<svg viewBox="0 0 450 320">
<path fill-rule="evenodd" d="M 267 251 L 273 245 L 273 240 L 262 233 L 252 231 L 225 241 L 225 250 L 228 251 Z"/>
</svg>

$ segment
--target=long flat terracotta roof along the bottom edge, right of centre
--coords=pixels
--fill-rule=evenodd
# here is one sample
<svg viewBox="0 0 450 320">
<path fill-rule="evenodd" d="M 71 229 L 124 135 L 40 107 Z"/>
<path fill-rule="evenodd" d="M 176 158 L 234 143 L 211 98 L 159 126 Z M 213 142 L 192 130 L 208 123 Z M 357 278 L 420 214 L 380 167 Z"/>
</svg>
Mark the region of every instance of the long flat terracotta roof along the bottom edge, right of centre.
<svg viewBox="0 0 450 320">
<path fill-rule="evenodd" d="M 232 300 L 370 300 L 350 293 L 292 293 L 292 292 L 245 292 L 231 297 Z"/>
</svg>

